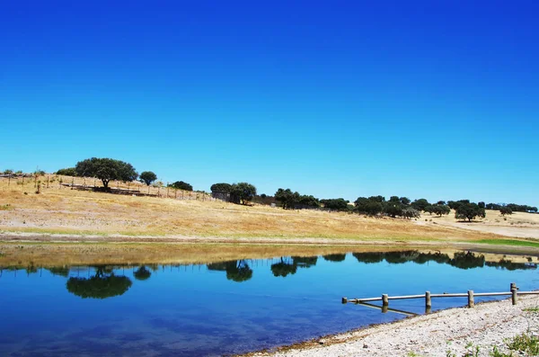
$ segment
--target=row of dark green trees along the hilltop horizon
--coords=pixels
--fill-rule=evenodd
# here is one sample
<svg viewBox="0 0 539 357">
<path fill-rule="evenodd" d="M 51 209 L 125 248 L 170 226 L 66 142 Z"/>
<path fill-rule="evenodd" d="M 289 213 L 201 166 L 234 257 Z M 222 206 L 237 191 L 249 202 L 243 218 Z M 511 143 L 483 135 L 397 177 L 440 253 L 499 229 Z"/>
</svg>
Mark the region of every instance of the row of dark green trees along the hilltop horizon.
<svg viewBox="0 0 539 357">
<path fill-rule="evenodd" d="M 69 176 L 86 176 L 100 179 L 103 188 L 107 190 L 112 180 L 134 181 L 139 180 L 146 185 L 155 184 L 157 175 L 152 171 L 143 171 L 138 174 L 133 165 L 111 158 L 92 157 L 79 161 L 75 167 L 60 169 L 56 174 Z M 190 183 L 176 181 L 169 183 L 169 187 L 193 191 Z M 214 183 L 210 190 L 215 198 L 238 204 L 248 204 L 258 201 L 262 204 L 276 203 L 285 210 L 323 209 L 357 212 L 359 214 L 378 216 L 384 215 L 392 218 L 417 219 L 421 212 L 443 216 L 455 210 L 455 219 L 467 219 L 469 221 L 485 217 L 485 210 L 499 210 L 502 215 L 512 214 L 514 211 L 537 212 L 536 207 L 518 205 L 515 203 L 497 204 L 485 202 L 460 201 L 437 201 L 429 202 L 426 199 L 411 201 L 407 197 L 391 196 L 386 200 L 384 196 L 358 197 L 353 204 L 343 198 L 318 199 L 313 195 L 293 192 L 289 188 L 279 188 L 273 196 L 266 194 L 257 195 L 257 189 L 252 183 Z"/>
</svg>

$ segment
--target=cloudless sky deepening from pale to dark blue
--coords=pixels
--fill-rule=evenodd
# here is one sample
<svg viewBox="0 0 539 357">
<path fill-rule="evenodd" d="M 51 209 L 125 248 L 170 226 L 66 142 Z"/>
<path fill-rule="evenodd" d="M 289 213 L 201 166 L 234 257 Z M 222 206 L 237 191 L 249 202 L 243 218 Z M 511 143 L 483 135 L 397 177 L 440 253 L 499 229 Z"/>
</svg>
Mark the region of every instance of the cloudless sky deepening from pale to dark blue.
<svg viewBox="0 0 539 357">
<path fill-rule="evenodd" d="M 4 1 L 0 170 L 539 205 L 536 1 Z"/>
</svg>

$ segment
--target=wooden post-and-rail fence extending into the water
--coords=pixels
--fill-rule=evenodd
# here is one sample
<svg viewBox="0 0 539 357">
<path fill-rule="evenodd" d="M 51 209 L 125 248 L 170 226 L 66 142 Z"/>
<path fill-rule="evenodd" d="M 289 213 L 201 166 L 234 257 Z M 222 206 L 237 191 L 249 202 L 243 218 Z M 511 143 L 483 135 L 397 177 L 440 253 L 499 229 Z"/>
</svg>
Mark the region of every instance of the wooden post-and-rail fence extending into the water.
<svg viewBox="0 0 539 357">
<path fill-rule="evenodd" d="M 359 304 L 363 306 L 368 307 L 375 307 L 375 308 L 382 308 L 382 312 L 387 311 L 393 311 L 398 313 L 406 313 L 410 314 L 406 311 L 402 310 L 395 310 L 388 308 L 389 306 L 389 300 L 402 300 L 402 299 L 425 299 L 425 308 L 427 309 L 427 312 L 430 312 L 430 308 L 432 307 L 432 298 L 468 298 L 468 308 L 473 308 L 474 306 L 474 297 L 484 297 L 484 296 L 511 296 L 511 300 L 513 305 L 517 305 L 518 301 L 518 295 L 539 295 L 538 291 L 518 291 L 517 284 L 514 282 L 511 282 L 510 284 L 510 292 L 476 292 L 474 293 L 473 290 L 468 290 L 468 292 L 465 293 L 443 293 L 443 294 L 431 294 L 430 291 L 426 291 L 424 294 L 419 295 L 402 295 L 402 296 L 388 296 L 387 294 L 382 294 L 381 297 L 378 298 L 365 298 L 365 299 L 347 299 L 342 298 L 342 303 L 354 303 Z M 382 301 L 382 307 L 368 304 L 370 301 Z"/>
</svg>

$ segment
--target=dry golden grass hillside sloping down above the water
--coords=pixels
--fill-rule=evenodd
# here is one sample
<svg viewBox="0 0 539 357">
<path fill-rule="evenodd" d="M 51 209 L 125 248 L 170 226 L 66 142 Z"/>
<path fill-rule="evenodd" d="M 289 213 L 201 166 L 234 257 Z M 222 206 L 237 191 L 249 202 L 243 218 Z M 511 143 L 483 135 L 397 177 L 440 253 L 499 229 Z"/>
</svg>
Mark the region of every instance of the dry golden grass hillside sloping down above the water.
<svg viewBox="0 0 539 357">
<path fill-rule="evenodd" d="M 349 213 L 241 206 L 208 201 L 208 196 L 201 193 L 199 200 L 194 199 L 196 193 L 190 193 L 191 200 L 187 200 L 185 192 L 168 192 L 169 198 L 157 198 L 78 191 L 61 186 L 60 179 L 63 183 L 72 180 L 41 176 L 39 194 L 34 187 L 37 180 L 26 179 L 24 184 L 21 179 L 11 180 L 8 186 L 7 179 L 0 179 L 0 230 L 4 234 L 30 232 L 102 237 L 308 237 L 376 241 L 467 241 L 499 237 L 493 234 L 495 232 L 479 232 L 455 223 L 452 215 L 428 216 L 427 222 L 424 219 L 376 219 Z M 115 187 L 118 183 L 110 185 Z M 132 189 L 139 183 L 129 185 Z M 142 187 L 144 190 L 147 188 Z M 159 189 L 161 194 L 165 190 Z M 499 222 L 490 216 L 487 219 L 500 224 L 508 222 L 506 226 L 510 227 L 517 217 Z M 535 223 L 530 221 L 529 224 L 530 229 L 537 230 Z"/>
</svg>

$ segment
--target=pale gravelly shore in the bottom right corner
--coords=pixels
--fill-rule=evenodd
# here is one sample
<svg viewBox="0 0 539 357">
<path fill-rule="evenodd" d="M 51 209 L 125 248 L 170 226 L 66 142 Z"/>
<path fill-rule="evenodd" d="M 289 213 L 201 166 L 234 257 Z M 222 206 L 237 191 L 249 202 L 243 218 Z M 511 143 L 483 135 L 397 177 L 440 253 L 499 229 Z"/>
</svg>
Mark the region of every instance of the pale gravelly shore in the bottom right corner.
<svg viewBox="0 0 539 357">
<path fill-rule="evenodd" d="M 502 300 L 451 308 L 249 356 L 489 356 L 494 346 L 508 352 L 504 339 L 525 332 L 539 335 L 537 307 L 535 295 L 519 297 L 517 306 Z"/>
</svg>

